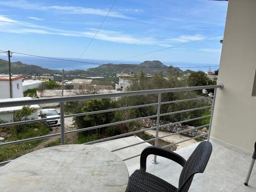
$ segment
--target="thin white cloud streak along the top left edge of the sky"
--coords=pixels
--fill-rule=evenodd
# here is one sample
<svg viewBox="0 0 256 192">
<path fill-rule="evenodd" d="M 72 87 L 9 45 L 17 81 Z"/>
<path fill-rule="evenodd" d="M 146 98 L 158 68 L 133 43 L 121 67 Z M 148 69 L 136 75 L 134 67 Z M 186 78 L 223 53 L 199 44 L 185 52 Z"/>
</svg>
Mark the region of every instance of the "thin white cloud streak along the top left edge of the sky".
<svg viewBox="0 0 256 192">
<path fill-rule="evenodd" d="M 29 3 L 25 0 L 17 0 L 17 1 L 0 1 L 1 6 L 19 8 L 19 9 L 32 9 L 32 10 L 41 10 L 41 11 L 55 11 L 58 13 L 64 14 L 91 14 L 91 15 L 101 15 L 105 16 L 108 14 L 109 10 L 105 9 L 94 9 L 94 8 L 86 8 L 86 7 L 75 7 L 75 6 L 44 6 L 34 3 Z M 125 18 L 131 19 L 129 16 L 126 16 L 119 12 L 111 11 L 109 14 L 110 17 L 116 18 Z"/>
</svg>

